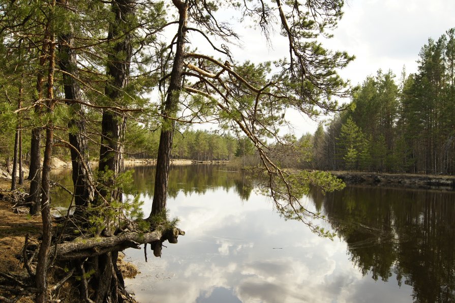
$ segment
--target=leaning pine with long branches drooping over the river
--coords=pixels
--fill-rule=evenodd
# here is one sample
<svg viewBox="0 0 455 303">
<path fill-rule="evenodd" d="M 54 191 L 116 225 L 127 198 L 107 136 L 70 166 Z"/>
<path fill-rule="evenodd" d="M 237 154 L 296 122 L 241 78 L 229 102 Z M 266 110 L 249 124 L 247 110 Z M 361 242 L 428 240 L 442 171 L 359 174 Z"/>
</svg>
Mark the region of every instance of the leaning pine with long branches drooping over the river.
<svg viewBox="0 0 455 303">
<path fill-rule="evenodd" d="M 256 147 L 264 182 L 263 193 L 288 218 L 311 223 L 317 214 L 305 209 L 299 198 L 310 185 L 333 190 L 342 185 L 323 172 L 297 174 L 275 163 L 273 146 L 292 145 L 289 136 L 280 135 L 287 124 L 285 113 L 297 109 L 311 117 L 342 110 L 333 97 L 350 95 L 349 83 L 337 69 L 353 57 L 346 52 L 325 49 L 318 38 L 330 37 L 326 31 L 336 27 L 342 16 L 342 1 L 316 0 L 273 2 L 206 2 L 173 0 L 178 26 L 169 43 L 160 89 L 162 129 L 155 178 L 155 192 L 150 217 L 166 208 L 167 179 L 173 132 L 179 125 L 216 120 L 221 128 L 247 136 Z M 238 43 L 238 35 L 220 18 L 221 12 L 239 14 L 239 20 L 261 29 L 267 39 L 279 31 L 287 38 L 288 54 L 273 63 L 238 62 L 229 45 Z M 222 58 L 196 50 L 191 40 L 199 35 Z M 197 42 L 200 41 L 196 39 Z M 223 41 L 217 45 L 217 41 Z M 210 53 L 209 52 L 209 53 Z M 280 148 L 278 148 L 280 149 Z"/>
</svg>

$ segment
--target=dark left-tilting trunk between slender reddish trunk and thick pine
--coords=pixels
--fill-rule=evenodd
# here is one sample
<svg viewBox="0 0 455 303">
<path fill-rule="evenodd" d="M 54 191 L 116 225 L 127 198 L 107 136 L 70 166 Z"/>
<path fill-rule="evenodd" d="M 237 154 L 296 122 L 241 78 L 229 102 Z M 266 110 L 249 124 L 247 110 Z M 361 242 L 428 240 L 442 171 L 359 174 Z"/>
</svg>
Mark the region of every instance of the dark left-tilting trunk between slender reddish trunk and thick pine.
<svg viewBox="0 0 455 303">
<path fill-rule="evenodd" d="M 64 7 L 68 7 L 68 0 L 59 0 Z M 86 139 L 85 117 L 82 106 L 78 103 L 82 99 L 80 87 L 75 78 L 78 78 L 77 56 L 74 47 L 73 26 L 70 23 L 70 33 L 59 37 L 58 65 L 63 73 L 65 99 L 70 106 L 71 119 L 68 122 L 72 178 L 74 185 L 74 203 L 76 211 L 85 208 L 92 201 L 95 194 L 93 173 L 88 156 Z"/>
</svg>

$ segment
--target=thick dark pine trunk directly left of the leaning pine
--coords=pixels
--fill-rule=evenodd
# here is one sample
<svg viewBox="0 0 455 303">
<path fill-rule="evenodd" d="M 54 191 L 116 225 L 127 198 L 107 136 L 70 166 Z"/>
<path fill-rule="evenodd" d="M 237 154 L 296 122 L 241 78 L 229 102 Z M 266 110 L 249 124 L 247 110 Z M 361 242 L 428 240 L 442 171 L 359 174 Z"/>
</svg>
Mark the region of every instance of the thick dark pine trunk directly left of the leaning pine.
<svg viewBox="0 0 455 303">
<path fill-rule="evenodd" d="M 133 0 L 115 0 L 112 2 L 112 13 L 115 20 L 110 24 L 108 40 L 116 40 L 108 55 L 107 76 L 105 94 L 112 102 L 122 103 L 124 89 L 128 85 L 130 76 L 130 61 L 132 56 L 131 34 L 128 33 L 128 25 L 125 22 L 129 15 L 134 14 Z M 112 110 L 104 110 L 101 122 L 101 146 L 99 162 L 99 195 L 98 203 L 110 203 L 115 200 L 122 201 L 122 191 L 115 184 L 115 177 L 123 170 L 123 142 L 126 131 L 126 116 Z M 105 178 L 104 174 L 108 173 Z M 109 199 L 107 199 L 109 198 Z M 107 218 L 107 220 L 113 220 Z M 114 222 L 105 222 L 107 235 L 115 228 Z M 103 254 L 92 258 L 90 263 L 95 269 L 96 302 L 119 302 L 123 301 L 119 290 L 125 290 L 125 283 L 121 272 L 118 270 L 118 252 Z"/>
</svg>

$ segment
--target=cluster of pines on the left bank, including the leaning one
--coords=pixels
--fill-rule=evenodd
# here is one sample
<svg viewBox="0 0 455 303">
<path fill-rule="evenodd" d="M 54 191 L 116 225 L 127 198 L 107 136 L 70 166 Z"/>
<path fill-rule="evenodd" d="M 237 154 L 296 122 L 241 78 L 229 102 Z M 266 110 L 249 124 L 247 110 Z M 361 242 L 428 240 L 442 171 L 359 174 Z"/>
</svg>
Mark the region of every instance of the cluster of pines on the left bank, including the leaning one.
<svg viewBox="0 0 455 303">
<path fill-rule="evenodd" d="M 230 159 L 254 150 L 259 186 L 277 211 L 332 236 L 299 198 L 310 186 L 332 191 L 342 182 L 326 172 L 287 171 L 276 159 L 295 143 L 280 134 L 287 109 L 316 117 L 346 107 L 335 98 L 349 97 L 352 87 L 337 71 L 354 57 L 317 39 L 330 38 L 342 8 L 331 0 L 0 1 L 1 153 L 13 166 L 2 195 L 42 222 L 39 237 L 25 236 L 23 272 L 0 274 L 0 300 L 59 300 L 71 282 L 76 301 L 133 301 L 118 253 L 148 244 L 158 257 L 163 241 L 185 234 L 166 215 L 176 155 Z M 268 42 L 280 33 L 287 51 L 272 62 L 240 62 L 230 50 L 240 43 L 233 18 Z M 221 137 L 187 131 L 205 123 Z M 125 157 L 141 154 L 157 158 L 148 216 L 124 172 Z M 71 159 L 72 211 L 56 219 L 50 169 L 60 155 Z"/>
</svg>

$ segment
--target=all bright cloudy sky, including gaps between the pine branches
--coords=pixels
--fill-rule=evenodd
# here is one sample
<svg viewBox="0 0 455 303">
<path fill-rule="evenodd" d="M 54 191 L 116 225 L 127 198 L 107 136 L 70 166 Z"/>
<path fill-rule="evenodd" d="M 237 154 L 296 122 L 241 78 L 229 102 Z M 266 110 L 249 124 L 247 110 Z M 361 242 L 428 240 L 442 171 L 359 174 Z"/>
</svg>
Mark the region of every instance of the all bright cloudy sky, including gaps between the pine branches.
<svg viewBox="0 0 455 303">
<path fill-rule="evenodd" d="M 455 27 L 454 0 L 346 0 L 344 16 L 331 39 L 321 42 L 332 50 L 345 50 L 355 55 L 354 62 L 339 73 L 350 79 L 353 85 L 361 84 L 378 69 L 391 69 L 400 81 L 405 66 L 407 74 L 417 71 L 418 53 L 432 37 L 437 40 L 449 28 Z M 233 22 L 231 22 L 232 24 Z M 285 56 L 287 40 L 279 34 L 272 37 L 271 47 L 265 38 L 253 28 L 234 25 L 241 36 L 241 47 L 231 47 L 238 60 L 263 62 Z M 220 42 L 221 43 L 221 42 Z M 347 102 L 349 100 L 341 100 Z M 286 117 L 294 128 L 297 138 L 313 133 L 318 125 L 296 111 Z"/>
</svg>

